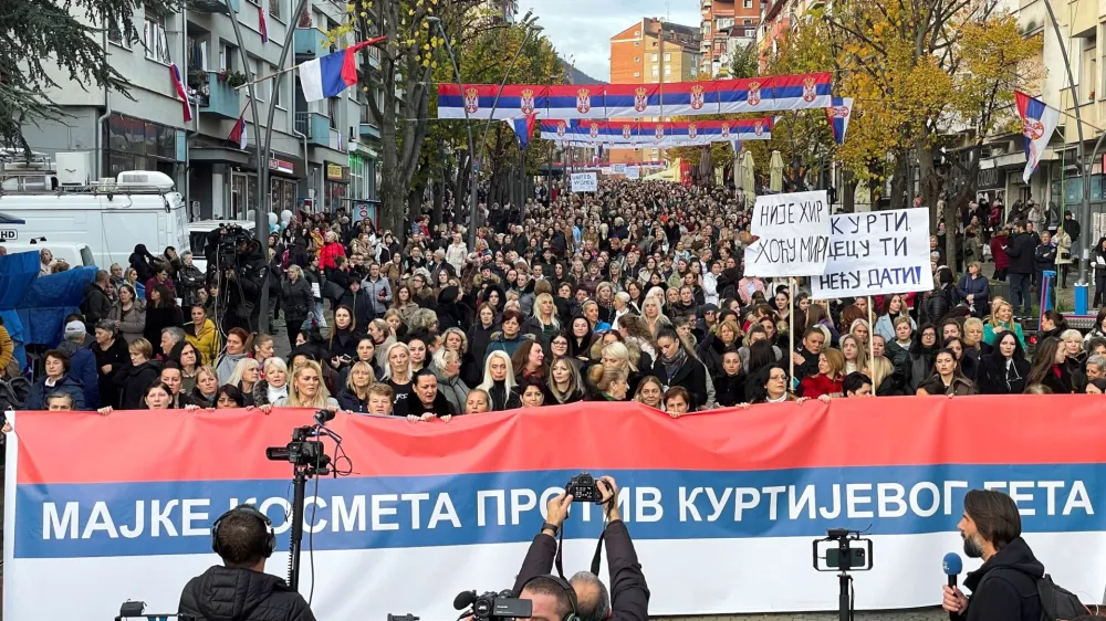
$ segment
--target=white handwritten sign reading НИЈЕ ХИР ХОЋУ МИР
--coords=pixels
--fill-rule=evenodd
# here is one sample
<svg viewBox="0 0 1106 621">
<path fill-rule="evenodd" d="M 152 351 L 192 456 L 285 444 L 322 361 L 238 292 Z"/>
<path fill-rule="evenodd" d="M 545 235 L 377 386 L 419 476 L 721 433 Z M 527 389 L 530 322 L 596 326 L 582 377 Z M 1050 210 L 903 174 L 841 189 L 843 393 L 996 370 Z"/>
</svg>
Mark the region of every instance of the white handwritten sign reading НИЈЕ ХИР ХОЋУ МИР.
<svg viewBox="0 0 1106 621">
<path fill-rule="evenodd" d="M 810 276 L 825 271 L 830 246 L 830 201 L 825 190 L 757 197 L 745 248 L 750 276 Z"/>
</svg>

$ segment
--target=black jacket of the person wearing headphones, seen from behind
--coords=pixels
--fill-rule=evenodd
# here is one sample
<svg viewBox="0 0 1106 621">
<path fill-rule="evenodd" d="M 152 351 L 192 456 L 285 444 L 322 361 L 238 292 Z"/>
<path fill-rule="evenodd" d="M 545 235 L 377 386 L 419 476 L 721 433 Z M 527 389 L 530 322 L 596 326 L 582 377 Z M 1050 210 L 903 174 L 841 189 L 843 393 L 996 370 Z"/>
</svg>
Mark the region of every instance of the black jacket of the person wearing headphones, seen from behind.
<svg viewBox="0 0 1106 621">
<path fill-rule="evenodd" d="M 185 585 L 177 612 L 205 621 L 315 621 L 303 596 L 281 578 L 218 566 Z"/>
</svg>

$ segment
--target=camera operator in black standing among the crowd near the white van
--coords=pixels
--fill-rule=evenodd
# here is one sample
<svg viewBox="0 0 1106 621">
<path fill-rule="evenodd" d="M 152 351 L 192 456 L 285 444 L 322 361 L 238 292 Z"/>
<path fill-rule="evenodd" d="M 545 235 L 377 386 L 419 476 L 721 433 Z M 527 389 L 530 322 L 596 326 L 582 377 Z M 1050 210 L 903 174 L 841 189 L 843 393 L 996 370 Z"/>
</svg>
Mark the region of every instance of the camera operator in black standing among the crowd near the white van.
<svg viewBox="0 0 1106 621">
<path fill-rule="evenodd" d="M 241 228 L 220 228 L 208 233 L 208 265 L 218 265 L 226 312 L 222 329 L 258 331 L 261 292 L 269 275 L 269 260 L 261 242 Z"/>
</svg>

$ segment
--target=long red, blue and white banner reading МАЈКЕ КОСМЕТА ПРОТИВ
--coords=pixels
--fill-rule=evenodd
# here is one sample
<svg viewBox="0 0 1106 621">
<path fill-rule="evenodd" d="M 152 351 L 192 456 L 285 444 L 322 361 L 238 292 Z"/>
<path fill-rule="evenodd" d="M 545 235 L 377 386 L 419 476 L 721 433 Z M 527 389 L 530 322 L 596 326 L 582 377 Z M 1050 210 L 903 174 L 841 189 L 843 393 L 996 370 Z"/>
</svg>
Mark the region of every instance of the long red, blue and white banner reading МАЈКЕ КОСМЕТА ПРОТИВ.
<svg viewBox="0 0 1106 621">
<path fill-rule="evenodd" d="M 312 412 L 19 412 L 13 422 L 7 618 L 108 619 L 127 599 L 174 610 L 188 578 L 218 561 L 212 520 L 241 502 L 272 518 L 280 543 L 268 570 L 285 571 L 291 465 L 265 448 L 288 443 Z M 874 540 L 858 609 L 937 604 L 973 487 L 1014 497 L 1057 583 L 1087 602 L 1104 597 L 1097 397 L 841 399 L 678 420 L 585 402 L 450 422 L 340 415 L 330 428 L 352 474 L 307 483 L 300 590 L 313 582 L 320 619 L 452 619 L 459 591 L 510 588 L 546 499 L 581 471 L 622 487 L 651 614 L 833 610 L 837 580 L 812 566 L 828 527 Z M 566 572 L 588 567 L 601 528 L 598 507 L 574 505 Z"/>
</svg>

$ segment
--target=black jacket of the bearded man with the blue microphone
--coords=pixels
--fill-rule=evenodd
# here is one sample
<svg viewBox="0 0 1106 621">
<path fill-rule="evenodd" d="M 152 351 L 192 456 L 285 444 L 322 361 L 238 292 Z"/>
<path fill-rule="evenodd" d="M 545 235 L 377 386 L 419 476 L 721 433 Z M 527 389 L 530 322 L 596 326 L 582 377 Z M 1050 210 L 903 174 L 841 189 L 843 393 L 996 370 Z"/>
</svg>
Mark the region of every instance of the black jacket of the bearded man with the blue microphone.
<svg viewBox="0 0 1106 621">
<path fill-rule="evenodd" d="M 956 617 L 961 621 L 1040 621 L 1036 581 L 1042 576 L 1044 565 L 1019 537 L 968 573 L 964 587 L 972 592 L 968 610 Z"/>
</svg>

